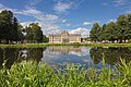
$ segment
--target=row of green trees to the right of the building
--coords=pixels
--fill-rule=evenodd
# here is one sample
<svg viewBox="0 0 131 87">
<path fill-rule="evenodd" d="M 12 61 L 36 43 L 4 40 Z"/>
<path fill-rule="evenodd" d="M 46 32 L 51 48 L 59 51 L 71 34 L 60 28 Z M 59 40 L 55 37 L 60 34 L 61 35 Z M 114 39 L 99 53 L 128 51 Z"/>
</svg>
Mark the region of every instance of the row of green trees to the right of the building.
<svg viewBox="0 0 131 87">
<path fill-rule="evenodd" d="M 117 22 L 104 24 L 103 27 L 94 24 L 90 37 L 95 42 L 127 42 L 131 39 L 131 13 L 119 15 Z"/>
</svg>

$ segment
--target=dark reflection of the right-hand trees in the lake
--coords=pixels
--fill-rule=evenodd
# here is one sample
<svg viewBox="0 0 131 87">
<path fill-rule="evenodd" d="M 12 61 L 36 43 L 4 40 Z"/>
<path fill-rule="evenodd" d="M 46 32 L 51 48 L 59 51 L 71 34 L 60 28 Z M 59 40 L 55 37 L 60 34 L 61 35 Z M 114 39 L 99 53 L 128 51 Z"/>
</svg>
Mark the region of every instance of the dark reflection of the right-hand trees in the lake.
<svg viewBox="0 0 131 87">
<path fill-rule="evenodd" d="M 120 63 L 120 59 L 131 61 L 131 48 L 92 48 L 90 54 L 94 64 L 102 62 L 103 58 L 110 65 Z"/>
</svg>

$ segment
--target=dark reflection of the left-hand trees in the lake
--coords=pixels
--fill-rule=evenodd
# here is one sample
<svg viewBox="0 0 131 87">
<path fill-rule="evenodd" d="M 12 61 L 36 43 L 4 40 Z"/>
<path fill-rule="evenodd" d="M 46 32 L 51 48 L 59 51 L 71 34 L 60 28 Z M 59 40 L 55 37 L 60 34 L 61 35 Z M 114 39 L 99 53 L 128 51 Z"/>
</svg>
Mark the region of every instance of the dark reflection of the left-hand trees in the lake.
<svg viewBox="0 0 131 87">
<path fill-rule="evenodd" d="M 43 51 L 46 48 L 34 48 L 34 49 L 17 49 L 17 48 L 0 48 L 0 69 L 5 60 L 5 66 L 11 69 L 14 62 L 36 61 L 39 62 L 43 58 Z"/>
</svg>

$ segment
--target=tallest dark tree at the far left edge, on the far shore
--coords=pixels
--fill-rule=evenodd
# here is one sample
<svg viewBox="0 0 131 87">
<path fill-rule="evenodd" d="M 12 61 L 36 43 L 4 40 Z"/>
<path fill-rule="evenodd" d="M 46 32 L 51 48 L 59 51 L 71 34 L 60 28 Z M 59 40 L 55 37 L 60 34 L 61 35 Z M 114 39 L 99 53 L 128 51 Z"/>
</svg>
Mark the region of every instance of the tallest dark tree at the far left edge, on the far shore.
<svg viewBox="0 0 131 87">
<path fill-rule="evenodd" d="M 2 11 L 0 13 L 0 41 L 5 44 L 17 41 L 19 39 L 19 22 L 11 11 Z"/>
</svg>

